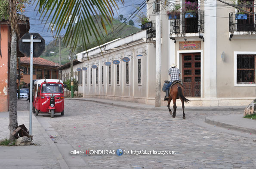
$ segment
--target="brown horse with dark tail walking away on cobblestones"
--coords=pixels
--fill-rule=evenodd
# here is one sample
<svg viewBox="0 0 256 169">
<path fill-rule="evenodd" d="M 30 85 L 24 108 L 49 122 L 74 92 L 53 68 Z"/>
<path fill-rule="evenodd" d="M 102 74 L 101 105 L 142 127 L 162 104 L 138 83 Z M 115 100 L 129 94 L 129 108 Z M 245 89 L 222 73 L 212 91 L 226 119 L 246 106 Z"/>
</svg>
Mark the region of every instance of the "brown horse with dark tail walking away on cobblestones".
<svg viewBox="0 0 256 169">
<path fill-rule="evenodd" d="M 170 109 L 170 103 L 171 103 L 172 99 L 173 99 L 173 113 L 172 113 L 172 110 Z M 177 109 L 176 100 L 177 99 L 180 99 L 182 102 L 183 119 L 186 119 L 185 113 L 184 113 L 184 101 L 186 103 L 188 103 L 189 100 L 187 98 L 185 98 L 184 88 L 183 88 L 182 84 L 180 84 L 180 83 L 173 84 L 173 86 L 170 87 L 170 91 L 169 91 L 169 99 L 168 99 L 167 107 L 169 109 L 170 115 L 173 115 L 173 118 L 175 118 L 175 116 L 176 116 L 176 109 Z"/>
</svg>

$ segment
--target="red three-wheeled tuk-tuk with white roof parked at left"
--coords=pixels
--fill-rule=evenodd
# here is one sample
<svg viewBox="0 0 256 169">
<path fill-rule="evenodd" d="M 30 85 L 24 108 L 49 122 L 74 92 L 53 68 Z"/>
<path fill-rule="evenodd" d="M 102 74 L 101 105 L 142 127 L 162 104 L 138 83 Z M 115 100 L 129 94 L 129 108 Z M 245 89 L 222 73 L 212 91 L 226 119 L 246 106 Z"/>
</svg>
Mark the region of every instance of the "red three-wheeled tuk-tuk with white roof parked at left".
<svg viewBox="0 0 256 169">
<path fill-rule="evenodd" d="M 62 80 L 41 79 L 34 82 L 33 111 L 49 113 L 51 118 L 54 113 L 64 115 L 64 88 Z"/>
</svg>

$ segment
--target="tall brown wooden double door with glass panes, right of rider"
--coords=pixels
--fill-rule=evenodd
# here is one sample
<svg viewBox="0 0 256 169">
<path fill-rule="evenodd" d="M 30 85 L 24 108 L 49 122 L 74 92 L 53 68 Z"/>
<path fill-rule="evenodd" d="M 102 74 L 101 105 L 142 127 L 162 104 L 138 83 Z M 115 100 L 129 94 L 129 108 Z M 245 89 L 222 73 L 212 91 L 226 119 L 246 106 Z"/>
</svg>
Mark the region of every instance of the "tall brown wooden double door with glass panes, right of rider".
<svg viewBox="0 0 256 169">
<path fill-rule="evenodd" d="M 200 53 L 182 55 L 182 78 L 186 97 L 200 97 L 201 56 Z"/>
</svg>

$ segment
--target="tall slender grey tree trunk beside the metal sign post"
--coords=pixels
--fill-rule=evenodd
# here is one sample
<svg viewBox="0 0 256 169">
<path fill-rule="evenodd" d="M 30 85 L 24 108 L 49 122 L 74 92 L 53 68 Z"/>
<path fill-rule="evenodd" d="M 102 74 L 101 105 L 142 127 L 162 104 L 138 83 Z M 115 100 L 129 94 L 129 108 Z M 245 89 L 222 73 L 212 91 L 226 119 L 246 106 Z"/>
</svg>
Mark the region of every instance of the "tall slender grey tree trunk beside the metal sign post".
<svg viewBox="0 0 256 169">
<path fill-rule="evenodd" d="M 7 20 L 11 26 L 11 53 L 9 69 L 9 140 L 15 140 L 13 131 L 18 127 L 17 115 L 17 36 L 19 37 L 19 13 L 23 13 L 28 0 L 1 0 L 0 21 Z M 1 35 L 0 35 L 1 37 Z M 0 55 L 1 51 L 0 51 Z"/>
</svg>

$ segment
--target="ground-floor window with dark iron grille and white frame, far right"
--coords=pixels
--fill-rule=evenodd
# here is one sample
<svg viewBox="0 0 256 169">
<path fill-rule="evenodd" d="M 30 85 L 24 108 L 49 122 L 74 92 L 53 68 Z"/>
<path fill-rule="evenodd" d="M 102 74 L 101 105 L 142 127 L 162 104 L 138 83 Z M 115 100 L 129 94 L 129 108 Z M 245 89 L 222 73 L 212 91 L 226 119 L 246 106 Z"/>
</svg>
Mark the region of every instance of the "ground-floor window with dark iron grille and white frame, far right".
<svg viewBox="0 0 256 169">
<path fill-rule="evenodd" d="M 255 84 L 255 57 L 237 54 L 237 84 Z"/>
</svg>

